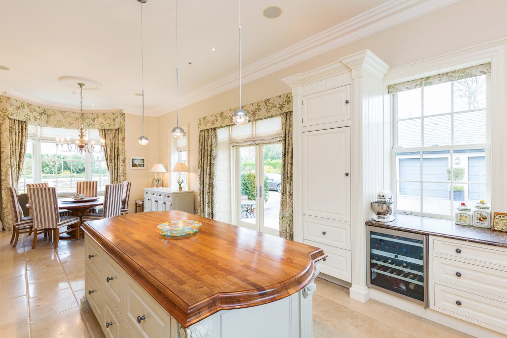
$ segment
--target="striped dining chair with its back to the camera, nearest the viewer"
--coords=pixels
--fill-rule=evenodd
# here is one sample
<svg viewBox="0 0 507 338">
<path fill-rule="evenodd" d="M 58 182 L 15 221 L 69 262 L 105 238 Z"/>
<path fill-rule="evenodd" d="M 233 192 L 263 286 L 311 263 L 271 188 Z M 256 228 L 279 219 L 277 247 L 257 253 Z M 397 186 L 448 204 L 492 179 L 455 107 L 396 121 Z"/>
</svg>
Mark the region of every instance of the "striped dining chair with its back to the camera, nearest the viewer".
<svg viewBox="0 0 507 338">
<path fill-rule="evenodd" d="M 37 235 L 44 231 L 53 231 L 54 247 L 58 247 L 60 237 L 59 229 L 64 228 L 61 233 L 66 233 L 67 227 L 72 224 L 79 225 L 79 217 L 60 216 L 58 212 L 58 200 L 56 199 L 56 188 L 49 187 L 31 187 L 28 189 L 28 195 L 31 196 L 31 209 L 33 214 L 33 243 L 32 249 L 37 245 Z"/>
</svg>

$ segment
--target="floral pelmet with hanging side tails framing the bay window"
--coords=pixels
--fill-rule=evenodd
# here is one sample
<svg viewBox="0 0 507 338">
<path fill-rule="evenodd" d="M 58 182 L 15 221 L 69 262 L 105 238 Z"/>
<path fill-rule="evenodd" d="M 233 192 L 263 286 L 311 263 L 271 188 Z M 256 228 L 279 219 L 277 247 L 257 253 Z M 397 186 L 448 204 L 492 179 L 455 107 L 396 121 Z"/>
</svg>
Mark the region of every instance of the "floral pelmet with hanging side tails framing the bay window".
<svg viewBox="0 0 507 338">
<path fill-rule="evenodd" d="M 11 173 L 11 123 L 10 120 L 24 121 L 44 127 L 64 127 L 78 129 L 119 129 L 120 159 L 125 163 L 125 113 L 116 111 L 76 111 L 55 110 L 24 102 L 9 96 L 0 95 L 0 214 L 4 230 L 12 229 L 12 215 L 9 202 L 9 186 L 13 182 Z M 120 169 L 125 177 L 125 165 Z M 19 177 L 19 175 L 18 175 Z"/>
</svg>

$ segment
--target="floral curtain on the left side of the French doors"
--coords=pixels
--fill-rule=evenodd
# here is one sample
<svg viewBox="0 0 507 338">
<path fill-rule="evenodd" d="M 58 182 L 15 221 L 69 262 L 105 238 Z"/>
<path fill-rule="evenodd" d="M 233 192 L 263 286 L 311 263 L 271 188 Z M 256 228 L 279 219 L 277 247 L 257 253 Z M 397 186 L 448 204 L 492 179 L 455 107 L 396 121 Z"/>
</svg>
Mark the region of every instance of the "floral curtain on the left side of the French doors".
<svg viewBox="0 0 507 338">
<path fill-rule="evenodd" d="M 199 131 L 199 175 L 198 209 L 199 215 L 214 219 L 216 214 L 216 147 L 218 134 L 216 128 Z"/>
</svg>

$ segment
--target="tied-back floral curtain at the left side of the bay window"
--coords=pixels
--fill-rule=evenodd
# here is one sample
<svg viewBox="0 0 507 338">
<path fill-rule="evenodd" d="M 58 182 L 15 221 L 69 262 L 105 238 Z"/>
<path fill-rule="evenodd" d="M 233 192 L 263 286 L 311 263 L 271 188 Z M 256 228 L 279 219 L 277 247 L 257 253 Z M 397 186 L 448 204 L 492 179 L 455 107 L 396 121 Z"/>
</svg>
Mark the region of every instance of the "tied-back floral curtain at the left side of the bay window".
<svg viewBox="0 0 507 338">
<path fill-rule="evenodd" d="M 19 177 L 25 160 L 26 141 L 28 140 L 28 123 L 9 119 L 9 142 L 11 148 L 11 185 L 18 187 Z"/>
</svg>

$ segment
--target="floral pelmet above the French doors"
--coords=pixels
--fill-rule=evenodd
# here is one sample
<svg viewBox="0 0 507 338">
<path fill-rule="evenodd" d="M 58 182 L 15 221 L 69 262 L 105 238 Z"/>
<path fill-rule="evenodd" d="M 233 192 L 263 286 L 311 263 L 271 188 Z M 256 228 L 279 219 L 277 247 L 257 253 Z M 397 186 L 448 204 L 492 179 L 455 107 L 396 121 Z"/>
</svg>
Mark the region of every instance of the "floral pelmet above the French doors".
<svg viewBox="0 0 507 338">
<path fill-rule="evenodd" d="M 232 115 L 238 108 L 212 114 L 199 119 L 199 130 L 232 126 Z M 245 104 L 250 121 L 267 119 L 292 111 L 292 93 L 285 93 L 266 100 Z"/>
</svg>

